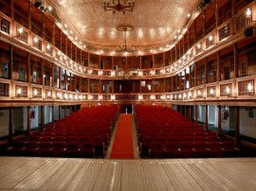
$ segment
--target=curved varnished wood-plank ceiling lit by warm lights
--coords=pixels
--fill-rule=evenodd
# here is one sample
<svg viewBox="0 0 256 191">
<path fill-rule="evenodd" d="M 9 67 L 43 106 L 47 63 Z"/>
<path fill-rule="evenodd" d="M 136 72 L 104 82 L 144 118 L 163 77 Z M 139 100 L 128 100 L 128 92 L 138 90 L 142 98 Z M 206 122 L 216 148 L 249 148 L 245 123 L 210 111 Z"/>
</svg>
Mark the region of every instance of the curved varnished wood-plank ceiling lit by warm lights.
<svg viewBox="0 0 256 191">
<path fill-rule="evenodd" d="M 122 0 L 120 0 L 121 2 Z M 111 1 L 110 1 L 111 2 Z M 188 22 L 198 0 L 136 0 L 133 12 L 104 11 L 102 0 L 48 0 L 66 30 L 72 30 L 83 43 L 115 49 L 124 44 L 124 32 L 118 26 L 133 26 L 127 45 L 137 49 L 172 43 L 178 30 Z"/>
</svg>

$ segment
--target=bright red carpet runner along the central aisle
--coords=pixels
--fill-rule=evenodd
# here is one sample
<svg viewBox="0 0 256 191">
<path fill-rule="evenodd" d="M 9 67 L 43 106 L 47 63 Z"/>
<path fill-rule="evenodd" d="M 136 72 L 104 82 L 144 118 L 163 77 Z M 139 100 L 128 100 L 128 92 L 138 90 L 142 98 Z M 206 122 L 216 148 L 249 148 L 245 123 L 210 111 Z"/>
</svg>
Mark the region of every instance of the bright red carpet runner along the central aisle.
<svg viewBox="0 0 256 191">
<path fill-rule="evenodd" d="M 134 159 L 132 114 L 120 114 L 110 159 Z"/>
</svg>

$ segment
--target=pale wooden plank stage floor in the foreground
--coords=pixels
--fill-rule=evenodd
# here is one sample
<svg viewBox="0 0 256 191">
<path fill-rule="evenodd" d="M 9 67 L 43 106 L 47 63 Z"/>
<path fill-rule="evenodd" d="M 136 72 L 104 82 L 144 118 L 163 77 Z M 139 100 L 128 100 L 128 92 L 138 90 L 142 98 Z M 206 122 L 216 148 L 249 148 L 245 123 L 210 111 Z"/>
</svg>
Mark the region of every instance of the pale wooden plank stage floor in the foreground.
<svg viewBox="0 0 256 191">
<path fill-rule="evenodd" d="M 256 158 L 0 157 L 0 190 L 256 190 Z"/>
</svg>

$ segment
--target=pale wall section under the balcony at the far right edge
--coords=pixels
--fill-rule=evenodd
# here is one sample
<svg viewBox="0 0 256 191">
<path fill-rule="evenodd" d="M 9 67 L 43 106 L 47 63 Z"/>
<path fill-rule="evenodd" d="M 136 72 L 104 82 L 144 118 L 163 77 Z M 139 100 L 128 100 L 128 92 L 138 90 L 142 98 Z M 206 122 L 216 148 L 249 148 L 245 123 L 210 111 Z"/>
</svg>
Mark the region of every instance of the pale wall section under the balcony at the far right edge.
<svg viewBox="0 0 256 191">
<path fill-rule="evenodd" d="M 239 127 L 240 134 L 256 138 L 256 108 L 251 108 L 254 117 L 249 117 L 249 111 L 245 107 L 239 110 Z"/>
</svg>

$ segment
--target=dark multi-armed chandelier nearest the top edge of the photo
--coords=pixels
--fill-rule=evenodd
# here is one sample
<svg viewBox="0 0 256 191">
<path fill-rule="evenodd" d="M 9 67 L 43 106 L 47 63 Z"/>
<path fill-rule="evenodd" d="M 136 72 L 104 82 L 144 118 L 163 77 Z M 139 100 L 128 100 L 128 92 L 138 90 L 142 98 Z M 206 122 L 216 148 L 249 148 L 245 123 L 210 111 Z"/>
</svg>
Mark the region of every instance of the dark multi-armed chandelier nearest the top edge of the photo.
<svg viewBox="0 0 256 191">
<path fill-rule="evenodd" d="M 112 10 L 113 15 L 116 14 L 117 11 L 121 11 L 125 14 L 125 11 L 133 11 L 135 7 L 135 0 L 129 0 L 126 3 L 126 0 L 112 0 L 112 3 L 109 3 L 109 0 L 103 1 L 104 11 Z"/>
</svg>

